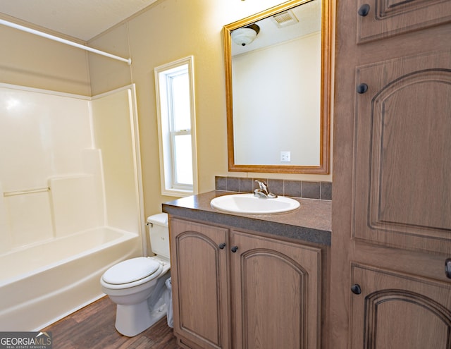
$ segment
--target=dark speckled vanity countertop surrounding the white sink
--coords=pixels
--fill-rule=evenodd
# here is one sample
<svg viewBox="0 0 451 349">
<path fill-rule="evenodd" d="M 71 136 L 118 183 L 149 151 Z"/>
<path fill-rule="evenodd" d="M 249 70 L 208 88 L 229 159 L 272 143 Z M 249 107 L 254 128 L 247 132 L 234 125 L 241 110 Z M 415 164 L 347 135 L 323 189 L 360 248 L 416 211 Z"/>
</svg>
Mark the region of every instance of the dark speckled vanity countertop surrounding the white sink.
<svg viewBox="0 0 451 349">
<path fill-rule="evenodd" d="M 234 192 L 214 190 L 183 197 L 163 203 L 163 212 L 186 219 L 208 221 L 212 224 L 260 231 L 308 243 L 330 245 L 332 202 L 293 198 L 300 202 L 299 209 L 268 215 L 232 214 L 211 207 L 210 202 L 214 197 L 229 194 Z"/>
</svg>

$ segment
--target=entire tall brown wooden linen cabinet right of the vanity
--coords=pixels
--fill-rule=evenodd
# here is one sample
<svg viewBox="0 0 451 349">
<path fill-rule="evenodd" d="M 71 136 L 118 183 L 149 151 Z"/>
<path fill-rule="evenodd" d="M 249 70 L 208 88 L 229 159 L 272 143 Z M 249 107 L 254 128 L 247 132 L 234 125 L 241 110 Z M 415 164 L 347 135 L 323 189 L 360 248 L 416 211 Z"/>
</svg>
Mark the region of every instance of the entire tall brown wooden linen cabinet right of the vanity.
<svg viewBox="0 0 451 349">
<path fill-rule="evenodd" d="M 329 347 L 449 349 L 451 1 L 337 4 Z"/>
</svg>

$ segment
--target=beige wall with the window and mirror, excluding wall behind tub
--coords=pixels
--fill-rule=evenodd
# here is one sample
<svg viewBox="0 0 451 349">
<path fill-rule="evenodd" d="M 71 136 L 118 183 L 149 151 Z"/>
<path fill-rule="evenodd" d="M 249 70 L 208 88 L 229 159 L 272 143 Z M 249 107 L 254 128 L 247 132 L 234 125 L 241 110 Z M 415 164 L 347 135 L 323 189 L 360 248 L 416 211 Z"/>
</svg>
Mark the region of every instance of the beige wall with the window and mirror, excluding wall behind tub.
<svg viewBox="0 0 451 349">
<path fill-rule="evenodd" d="M 214 176 L 249 176 L 331 181 L 332 176 L 278 173 L 229 173 L 222 27 L 280 0 L 163 0 L 89 44 L 120 56 L 132 66 L 89 54 L 92 92 L 98 94 L 135 82 L 144 181 L 145 214 L 161 209 L 154 68 L 194 56 L 199 192 L 214 190 Z M 130 49 L 130 51 L 128 51 Z M 130 71 L 129 75 L 127 75 Z"/>
</svg>

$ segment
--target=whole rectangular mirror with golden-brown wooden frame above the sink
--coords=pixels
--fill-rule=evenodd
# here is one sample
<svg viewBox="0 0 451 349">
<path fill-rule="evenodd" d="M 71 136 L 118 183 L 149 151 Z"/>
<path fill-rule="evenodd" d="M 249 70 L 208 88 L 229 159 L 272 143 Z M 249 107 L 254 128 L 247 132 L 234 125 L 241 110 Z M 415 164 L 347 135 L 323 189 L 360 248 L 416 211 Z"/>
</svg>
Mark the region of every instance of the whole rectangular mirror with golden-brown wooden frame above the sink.
<svg viewBox="0 0 451 349">
<path fill-rule="evenodd" d="M 330 0 L 293 0 L 223 27 L 228 169 L 329 173 Z"/>
</svg>

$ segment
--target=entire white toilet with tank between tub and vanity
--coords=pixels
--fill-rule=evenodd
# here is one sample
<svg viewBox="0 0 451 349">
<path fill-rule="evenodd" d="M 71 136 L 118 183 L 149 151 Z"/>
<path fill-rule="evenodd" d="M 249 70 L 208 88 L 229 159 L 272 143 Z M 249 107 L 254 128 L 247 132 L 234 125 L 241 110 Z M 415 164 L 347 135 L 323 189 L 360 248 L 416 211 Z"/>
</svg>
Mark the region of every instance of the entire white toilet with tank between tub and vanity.
<svg viewBox="0 0 451 349">
<path fill-rule="evenodd" d="M 109 268 L 100 278 L 101 289 L 117 304 L 116 329 L 136 336 L 166 315 L 163 297 L 171 276 L 168 215 L 147 218 L 154 257 L 136 257 Z"/>
</svg>

